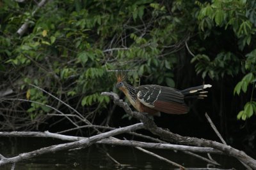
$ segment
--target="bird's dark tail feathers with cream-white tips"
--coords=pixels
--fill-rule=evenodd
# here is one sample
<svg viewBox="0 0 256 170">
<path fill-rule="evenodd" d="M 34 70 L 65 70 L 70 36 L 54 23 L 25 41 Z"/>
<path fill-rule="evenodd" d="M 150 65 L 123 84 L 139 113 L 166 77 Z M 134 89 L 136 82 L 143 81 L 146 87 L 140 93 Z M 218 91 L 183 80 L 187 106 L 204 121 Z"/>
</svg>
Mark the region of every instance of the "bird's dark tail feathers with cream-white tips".
<svg viewBox="0 0 256 170">
<path fill-rule="evenodd" d="M 212 87 L 212 85 L 200 85 L 181 90 L 180 92 L 184 94 L 184 99 L 204 99 L 204 97 L 207 97 L 207 91 L 205 89 L 209 87 Z"/>
</svg>

